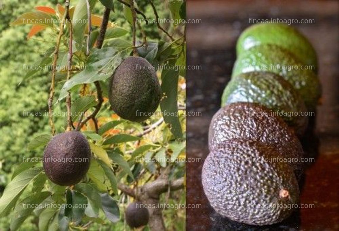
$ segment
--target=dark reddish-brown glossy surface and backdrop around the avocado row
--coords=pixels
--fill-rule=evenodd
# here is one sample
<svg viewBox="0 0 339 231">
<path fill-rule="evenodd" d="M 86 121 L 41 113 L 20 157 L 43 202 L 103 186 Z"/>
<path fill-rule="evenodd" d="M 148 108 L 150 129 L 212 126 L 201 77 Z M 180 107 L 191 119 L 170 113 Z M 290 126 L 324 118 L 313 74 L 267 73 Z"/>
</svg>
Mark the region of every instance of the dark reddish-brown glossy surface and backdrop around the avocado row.
<svg viewBox="0 0 339 231">
<path fill-rule="evenodd" d="M 203 162 L 187 163 L 187 230 L 339 230 L 339 2 L 338 1 L 190 1 L 187 65 L 202 70 L 187 72 L 187 110 L 202 112 L 187 118 L 187 157 L 208 154 L 207 134 L 213 114 L 219 109 L 222 91 L 230 79 L 236 58 L 235 44 L 241 31 L 254 19 L 315 19 L 314 24 L 294 24 L 314 45 L 319 59 L 322 105 L 310 118 L 302 139 L 305 156 L 315 157 L 305 164 L 301 182 L 301 203 L 314 208 L 297 210 L 280 224 L 265 227 L 242 225 L 225 219 L 210 207 L 201 185 Z"/>
</svg>

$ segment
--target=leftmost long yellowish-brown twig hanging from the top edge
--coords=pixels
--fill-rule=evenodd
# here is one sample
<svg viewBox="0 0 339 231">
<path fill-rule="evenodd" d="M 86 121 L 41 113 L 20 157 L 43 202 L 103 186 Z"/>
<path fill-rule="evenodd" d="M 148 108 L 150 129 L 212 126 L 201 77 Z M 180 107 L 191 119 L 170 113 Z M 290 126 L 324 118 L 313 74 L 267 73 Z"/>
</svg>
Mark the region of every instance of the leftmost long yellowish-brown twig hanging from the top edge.
<svg viewBox="0 0 339 231">
<path fill-rule="evenodd" d="M 66 0 L 65 2 L 65 6 L 66 8 L 69 7 L 69 0 Z M 55 46 L 55 50 L 54 50 L 54 60 L 53 60 L 53 70 L 52 70 L 52 80 L 51 80 L 51 87 L 49 88 L 49 97 L 48 97 L 48 116 L 49 116 L 49 123 L 51 124 L 51 129 L 52 129 L 52 135 L 55 134 L 55 125 L 53 122 L 53 98 L 54 98 L 54 93 L 55 93 L 55 75 L 56 75 L 56 65 L 57 65 L 57 61 L 58 61 L 58 56 L 59 56 L 59 47 L 60 47 L 60 41 L 61 41 L 61 37 L 63 35 L 63 28 L 64 28 L 64 24 L 65 24 L 65 20 L 66 20 L 66 16 L 67 16 L 67 12 L 65 11 L 63 19 L 61 20 L 60 23 L 60 28 L 59 28 L 59 36 L 57 39 L 57 44 Z"/>
</svg>

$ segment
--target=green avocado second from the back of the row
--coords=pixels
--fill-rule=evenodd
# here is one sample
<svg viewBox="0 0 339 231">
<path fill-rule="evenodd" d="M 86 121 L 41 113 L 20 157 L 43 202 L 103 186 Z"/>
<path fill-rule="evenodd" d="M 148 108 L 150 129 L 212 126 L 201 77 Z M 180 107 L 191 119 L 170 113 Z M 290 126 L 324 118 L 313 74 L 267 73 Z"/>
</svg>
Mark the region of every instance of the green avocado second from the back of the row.
<svg viewBox="0 0 339 231">
<path fill-rule="evenodd" d="M 280 69 L 278 66 L 290 68 Z M 273 72 L 282 76 L 299 92 L 308 110 L 315 111 L 321 95 L 318 77 L 288 50 L 276 45 L 259 45 L 242 52 L 233 67 L 232 77 L 252 71 Z"/>
</svg>

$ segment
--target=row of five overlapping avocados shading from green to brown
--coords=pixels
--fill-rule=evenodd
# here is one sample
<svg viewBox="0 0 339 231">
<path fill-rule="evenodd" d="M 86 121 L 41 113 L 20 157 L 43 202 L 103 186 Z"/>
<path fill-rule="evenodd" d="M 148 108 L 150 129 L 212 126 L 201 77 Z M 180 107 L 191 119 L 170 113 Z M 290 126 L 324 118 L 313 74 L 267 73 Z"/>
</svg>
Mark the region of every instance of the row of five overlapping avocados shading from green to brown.
<svg viewBox="0 0 339 231">
<path fill-rule="evenodd" d="M 291 26 L 256 24 L 240 35 L 202 169 L 217 213 L 259 226 L 292 214 L 303 174 L 299 138 L 321 95 L 317 70 L 314 48 Z"/>
</svg>

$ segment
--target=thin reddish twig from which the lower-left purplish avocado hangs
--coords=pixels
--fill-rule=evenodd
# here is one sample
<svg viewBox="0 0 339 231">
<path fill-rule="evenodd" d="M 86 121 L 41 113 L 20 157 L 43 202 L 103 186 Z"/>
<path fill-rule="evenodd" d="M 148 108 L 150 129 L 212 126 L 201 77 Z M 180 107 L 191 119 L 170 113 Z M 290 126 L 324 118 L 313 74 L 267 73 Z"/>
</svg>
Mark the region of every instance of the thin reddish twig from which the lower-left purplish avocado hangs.
<svg viewBox="0 0 339 231">
<path fill-rule="evenodd" d="M 68 22 L 68 29 L 69 29 L 69 43 L 68 43 L 68 57 L 67 57 L 67 79 L 66 81 L 69 80 L 71 77 L 71 68 L 72 68 L 72 57 L 73 57 L 73 28 L 72 28 L 72 23 L 70 21 L 69 17 L 69 5 L 66 7 L 66 18 Z M 67 107 L 67 131 L 72 130 L 73 123 L 72 123 L 72 116 L 71 116 L 71 106 L 72 106 L 72 101 L 71 101 L 71 92 L 67 92 L 67 97 L 66 97 L 66 107 Z"/>
</svg>

